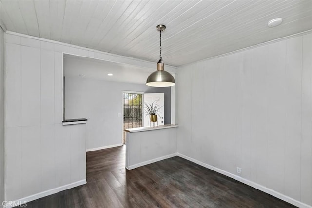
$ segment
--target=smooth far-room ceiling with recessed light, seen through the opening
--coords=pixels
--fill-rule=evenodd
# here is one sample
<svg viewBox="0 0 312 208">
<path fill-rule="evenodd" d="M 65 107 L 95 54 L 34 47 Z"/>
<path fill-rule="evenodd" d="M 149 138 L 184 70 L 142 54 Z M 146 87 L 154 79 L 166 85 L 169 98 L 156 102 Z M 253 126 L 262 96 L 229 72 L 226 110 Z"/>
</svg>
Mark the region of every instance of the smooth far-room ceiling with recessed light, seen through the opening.
<svg viewBox="0 0 312 208">
<path fill-rule="evenodd" d="M 156 70 L 156 69 L 155 69 Z M 145 84 L 153 69 L 94 58 L 64 55 L 64 76 L 97 79 L 114 82 Z M 108 76 L 112 73 L 113 76 Z"/>
</svg>

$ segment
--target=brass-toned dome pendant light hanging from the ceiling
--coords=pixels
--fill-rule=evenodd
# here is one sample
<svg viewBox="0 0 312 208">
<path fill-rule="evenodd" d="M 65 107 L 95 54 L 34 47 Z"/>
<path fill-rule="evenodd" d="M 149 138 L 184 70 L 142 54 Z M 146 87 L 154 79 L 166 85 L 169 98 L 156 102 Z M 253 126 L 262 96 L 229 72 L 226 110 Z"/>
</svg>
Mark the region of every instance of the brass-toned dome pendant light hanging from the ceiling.
<svg viewBox="0 0 312 208">
<path fill-rule="evenodd" d="M 157 71 L 147 77 L 146 85 L 151 87 L 170 87 L 176 85 L 175 78 L 169 73 L 164 71 L 164 63 L 161 57 L 161 32 L 166 29 L 165 25 L 157 25 L 157 30 L 160 32 L 160 55 L 157 63 Z"/>
</svg>

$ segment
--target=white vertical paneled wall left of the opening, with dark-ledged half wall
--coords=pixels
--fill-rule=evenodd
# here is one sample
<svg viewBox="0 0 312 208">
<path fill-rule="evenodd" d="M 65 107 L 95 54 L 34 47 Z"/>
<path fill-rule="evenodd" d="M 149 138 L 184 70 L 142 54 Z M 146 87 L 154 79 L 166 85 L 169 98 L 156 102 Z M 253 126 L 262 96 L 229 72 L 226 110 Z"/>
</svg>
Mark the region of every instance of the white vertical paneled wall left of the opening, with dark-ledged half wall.
<svg viewBox="0 0 312 208">
<path fill-rule="evenodd" d="M 5 39 L 6 200 L 83 183 L 85 124 L 62 125 L 61 46 Z"/>
</svg>

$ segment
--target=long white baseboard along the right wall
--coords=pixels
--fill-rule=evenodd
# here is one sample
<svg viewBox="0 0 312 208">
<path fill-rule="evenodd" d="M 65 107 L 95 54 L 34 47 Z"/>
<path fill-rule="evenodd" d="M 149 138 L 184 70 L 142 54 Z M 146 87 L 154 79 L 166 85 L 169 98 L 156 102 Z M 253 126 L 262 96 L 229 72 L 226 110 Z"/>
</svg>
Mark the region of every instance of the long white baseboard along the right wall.
<svg viewBox="0 0 312 208">
<path fill-rule="evenodd" d="M 186 156 L 186 155 L 181 154 L 181 153 L 177 153 L 177 156 L 182 157 L 182 158 L 184 158 L 186 160 L 189 160 L 191 162 L 194 162 L 194 163 L 196 163 L 196 164 L 198 164 L 200 166 L 203 166 L 205 168 L 208 168 L 210 170 L 214 170 L 214 171 L 216 171 L 218 173 L 221 173 L 222 175 L 226 175 L 226 176 L 228 176 L 230 178 L 233 178 L 233 179 L 235 179 L 235 180 L 237 180 L 239 182 L 247 184 L 248 186 L 254 187 L 255 189 L 261 190 L 261 191 L 263 191 L 265 193 L 268 193 L 268 194 L 270 194 L 272 196 L 275 196 L 276 198 L 279 198 L 279 199 L 281 199 L 281 200 L 283 200 L 285 202 L 288 202 L 288 203 L 290 203 L 290 204 L 292 204 L 294 206 L 297 206 L 299 208 L 312 208 L 310 205 L 307 205 L 307 204 L 305 204 L 303 202 L 299 202 L 298 200 L 295 200 L 295 199 L 293 199 L 293 198 L 291 198 L 289 196 L 285 196 L 284 194 L 279 193 L 279 192 L 277 192 L 275 190 L 269 189 L 267 187 L 264 187 L 264 186 L 262 186 L 260 184 L 254 183 L 254 182 L 252 182 L 250 180 L 247 180 L 245 178 L 242 178 L 242 177 L 240 177 L 238 175 L 232 174 L 232 173 L 227 172 L 225 170 L 222 170 L 222 169 L 219 169 L 219 168 L 215 168 L 214 166 L 211 166 L 211 165 L 208 165 L 206 163 L 203 163 L 203 162 L 201 162 L 199 160 L 196 160 L 196 159 L 194 159 L 192 157 Z"/>
</svg>

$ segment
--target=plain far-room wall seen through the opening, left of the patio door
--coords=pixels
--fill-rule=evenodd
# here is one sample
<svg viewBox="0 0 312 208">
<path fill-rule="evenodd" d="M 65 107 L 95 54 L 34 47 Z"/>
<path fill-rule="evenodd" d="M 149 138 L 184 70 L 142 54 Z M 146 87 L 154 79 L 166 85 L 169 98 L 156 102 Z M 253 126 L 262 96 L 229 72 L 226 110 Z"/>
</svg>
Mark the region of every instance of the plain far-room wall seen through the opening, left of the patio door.
<svg viewBox="0 0 312 208">
<path fill-rule="evenodd" d="M 66 67 L 66 64 L 64 65 Z M 144 84 L 65 77 L 65 118 L 87 118 L 87 149 L 122 145 L 122 90 L 144 92 Z"/>
</svg>

